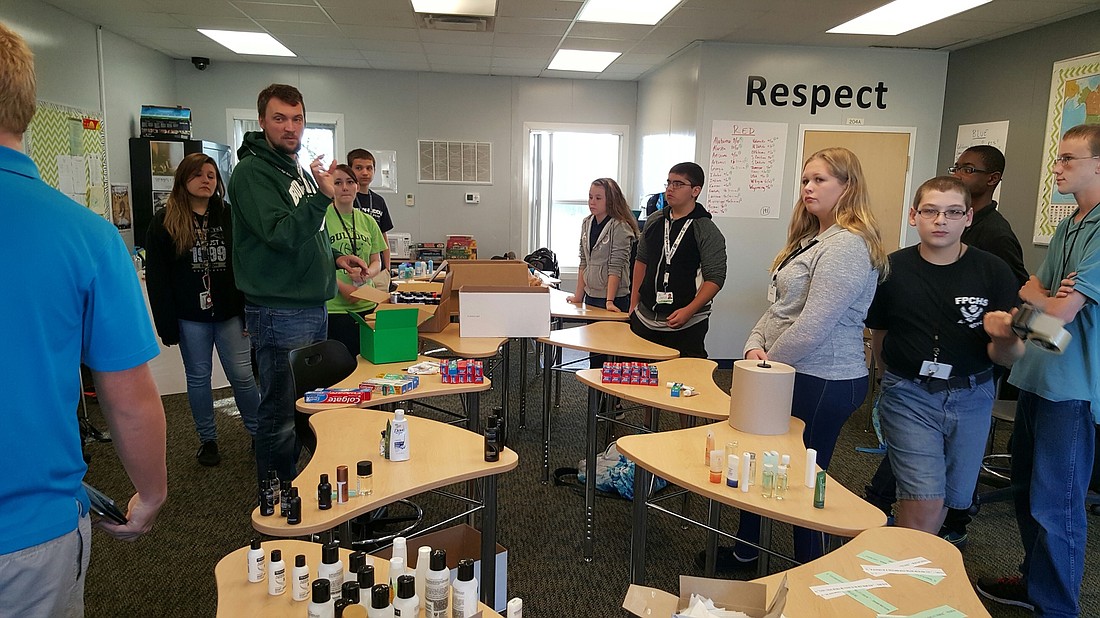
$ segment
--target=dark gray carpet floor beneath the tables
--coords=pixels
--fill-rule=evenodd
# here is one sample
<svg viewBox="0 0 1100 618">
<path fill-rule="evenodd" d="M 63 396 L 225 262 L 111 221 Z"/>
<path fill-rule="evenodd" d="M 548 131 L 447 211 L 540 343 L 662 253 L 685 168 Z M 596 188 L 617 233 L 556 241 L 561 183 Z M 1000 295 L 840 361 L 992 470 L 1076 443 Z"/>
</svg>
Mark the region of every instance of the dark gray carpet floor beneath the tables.
<svg viewBox="0 0 1100 618">
<path fill-rule="evenodd" d="M 518 347 L 514 350 L 518 352 Z M 513 358 L 518 356 L 513 354 Z M 528 358 L 530 361 L 531 356 Z M 514 376 L 518 376 L 517 368 L 514 367 Z M 525 429 L 517 427 L 518 393 L 513 390 L 514 416 L 508 446 L 519 453 L 519 466 L 503 475 L 498 483 L 498 541 L 508 549 L 509 596 L 524 598 L 528 617 L 625 616 L 620 604 L 628 585 L 631 505 L 623 499 L 597 500 L 596 555 L 594 562 L 585 563 L 581 558 L 583 496 L 570 486 L 539 482 L 541 379 L 534 368 L 529 374 Z M 728 388 L 730 372 L 717 372 L 715 380 Z M 482 396 L 483 416 L 498 405 L 499 397 L 498 388 Z M 249 437 L 235 416 L 231 391 L 218 390 L 216 399 L 222 463 L 217 467 L 202 467 L 195 461 L 198 440 L 186 396 L 164 397 L 168 420 L 168 503 L 155 529 L 135 543 L 116 541 L 98 530 L 94 533 L 85 595 L 87 616 L 215 615 L 215 564 L 256 536 L 250 520 L 255 493 Z M 585 389 L 572 376 L 563 376 L 561 406 L 553 411 L 551 467 L 576 466 L 583 456 L 585 400 Z M 458 402 L 444 405 L 457 409 Z M 435 415 L 417 406 L 411 409 L 420 416 Z M 106 427 L 95 402 L 90 410 L 92 421 Z M 672 416 L 663 415 L 662 429 L 679 427 Z M 628 419 L 640 423 L 640 412 L 628 412 Z M 869 427 L 866 409 L 853 416 L 840 435 L 829 470 L 831 475 L 857 494 L 862 493 L 879 463 L 878 455 L 855 451 L 856 446 L 875 444 Z M 372 449 L 376 440 L 376 437 L 364 437 L 365 448 Z M 113 448 L 107 443 L 90 443 L 87 451 L 91 456 L 88 479 L 117 500 L 128 499 L 132 486 Z M 458 511 L 454 503 L 435 496 L 418 497 L 417 501 L 425 507 L 429 522 Z M 688 509 L 702 518 L 705 503 L 694 497 Z M 1096 518 L 1089 519 L 1090 523 L 1097 522 Z M 693 562 L 703 547 L 704 534 L 697 529 L 685 530 L 678 521 L 659 514 L 651 514 L 649 521 L 646 571 L 649 584 L 674 591 L 680 574 L 701 575 Z M 733 530 L 736 523 L 736 510 L 725 510 L 723 528 Z M 777 523 L 772 534 L 778 549 L 790 553 L 790 528 Z M 1081 595 L 1085 616 L 1100 616 L 1098 534 L 1097 526 L 1091 526 Z M 1011 503 L 981 507 L 970 526 L 969 544 L 963 555 L 971 578 L 1015 572 L 1022 550 Z M 773 569 L 779 566 L 777 561 L 772 564 Z M 745 575 L 745 578 L 752 576 Z M 994 617 L 1027 615 L 1015 608 L 988 607 Z"/>
</svg>

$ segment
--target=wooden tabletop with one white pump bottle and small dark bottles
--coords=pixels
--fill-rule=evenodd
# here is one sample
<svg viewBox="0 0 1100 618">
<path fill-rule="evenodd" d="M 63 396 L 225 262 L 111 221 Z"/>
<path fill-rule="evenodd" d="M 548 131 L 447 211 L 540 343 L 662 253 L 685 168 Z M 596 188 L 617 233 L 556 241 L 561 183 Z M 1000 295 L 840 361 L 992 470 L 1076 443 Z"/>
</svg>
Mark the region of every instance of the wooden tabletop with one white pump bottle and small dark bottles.
<svg viewBox="0 0 1100 618">
<path fill-rule="evenodd" d="M 378 454 L 378 442 L 386 421 L 394 415 L 381 410 L 342 408 L 309 417 L 317 434 L 317 451 L 294 485 L 301 496 L 301 523 L 288 526 L 278 514 L 262 517 L 252 511 L 252 527 L 272 537 L 300 537 L 321 532 L 339 523 L 386 506 L 402 498 L 462 481 L 507 472 L 519 463 L 516 452 L 505 449 L 499 461 L 485 461 L 484 437 L 447 423 L 418 417 L 409 422 L 409 461 L 392 462 Z M 332 508 L 318 510 L 317 483 L 329 475 L 336 488 L 337 466 L 346 465 L 349 483 L 355 486 L 355 464 L 374 462 L 374 493 L 352 497 L 343 505 L 332 500 Z"/>
</svg>

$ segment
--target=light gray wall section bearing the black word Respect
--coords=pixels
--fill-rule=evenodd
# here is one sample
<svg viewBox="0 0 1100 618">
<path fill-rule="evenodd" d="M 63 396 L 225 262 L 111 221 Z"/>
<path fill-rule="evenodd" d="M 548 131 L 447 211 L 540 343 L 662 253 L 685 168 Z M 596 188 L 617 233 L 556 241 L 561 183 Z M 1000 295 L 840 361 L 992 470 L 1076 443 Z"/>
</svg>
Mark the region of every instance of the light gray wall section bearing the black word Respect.
<svg viewBox="0 0 1100 618">
<path fill-rule="evenodd" d="M 728 268 L 726 285 L 715 300 L 721 319 L 712 320 L 707 351 L 715 358 L 739 358 L 752 324 L 767 308 L 768 267 L 787 239 L 787 225 L 796 200 L 796 178 L 801 162 L 795 161 L 800 124 L 843 125 L 848 117 L 861 117 L 870 126 L 915 126 L 913 178 L 921 181 L 935 175 L 947 71 L 947 53 L 893 49 L 840 49 L 778 47 L 703 43 L 698 46 L 697 77 L 695 52 L 647 76 L 639 85 L 638 124 L 640 139 L 654 134 L 693 133 L 695 161 L 708 167 L 712 123 L 715 120 L 785 122 L 789 124 L 783 179 L 783 205 L 779 219 L 718 218 L 726 236 Z M 769 88 L 776 82 L 847 84 L 886 82 L 887 109 L 839 109 L 829 107 L 810 113 L 795 108 L 747 104 L 748 76 L 761 75 Z M 695 82 L 696 93 L 691 92 Z M 679 101 L 673 102 L 672 98 Z M 693 129 L 689 122 L 693 102 L 697 112 Z M 664 119 L 667 110 L 668 120 Z M 667 124 L 668 129 L 663 129 Z M 649 153 L 642 153 L 648 158 Z M 656 156 L 656 155 L 653 155 Z M 674 162 L 673 162 L 674 163 Z M 642 161 L 641 167 L 646 167 Z M 704 195 L 705 195 L 704 188 Z"/>
</svg>

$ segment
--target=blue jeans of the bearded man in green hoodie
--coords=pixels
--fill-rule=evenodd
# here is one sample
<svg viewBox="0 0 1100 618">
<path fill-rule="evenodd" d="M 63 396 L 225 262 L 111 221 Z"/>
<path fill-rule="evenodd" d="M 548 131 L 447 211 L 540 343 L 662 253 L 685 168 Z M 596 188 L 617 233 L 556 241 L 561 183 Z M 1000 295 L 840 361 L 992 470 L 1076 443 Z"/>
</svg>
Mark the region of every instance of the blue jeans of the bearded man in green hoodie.
<svg viewBox="0 0 1100 618">
<path fill-rule="evenodd" d="M 260 371 L 256 481 L 266 481 L 268 470 L 276 471 L 279 478 L 294 478 L 300 445 L 294 432 L 294 378 L 287 354 L 324 341 L 329 316 L 324 306 L 273 309 L 246 305 L 244 317 Z"/>
</svg>

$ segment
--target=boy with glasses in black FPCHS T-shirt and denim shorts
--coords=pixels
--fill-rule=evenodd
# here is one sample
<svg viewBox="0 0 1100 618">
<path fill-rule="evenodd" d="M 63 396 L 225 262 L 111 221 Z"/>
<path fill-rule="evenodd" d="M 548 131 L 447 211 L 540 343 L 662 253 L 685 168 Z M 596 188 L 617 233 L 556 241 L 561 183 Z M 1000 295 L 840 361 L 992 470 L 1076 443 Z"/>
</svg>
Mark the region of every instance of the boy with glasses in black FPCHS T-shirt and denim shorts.
<svg viewBox="0 0 1100 618">
<path fill-rule="evenodd" d="M 989 434 L 992 365 L 1023 355 L 1007 312 L 1015 279 L 997 256 L 963 244 L 970 192 L 941 176 L 916 190 L 921 243 L 890 255 L 866 324 L 884 368 L 879 412 L 898 478 L 898 525 L 935 534 L 946 508 L 970 506 Z"/>
</svg>

